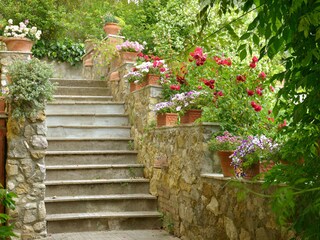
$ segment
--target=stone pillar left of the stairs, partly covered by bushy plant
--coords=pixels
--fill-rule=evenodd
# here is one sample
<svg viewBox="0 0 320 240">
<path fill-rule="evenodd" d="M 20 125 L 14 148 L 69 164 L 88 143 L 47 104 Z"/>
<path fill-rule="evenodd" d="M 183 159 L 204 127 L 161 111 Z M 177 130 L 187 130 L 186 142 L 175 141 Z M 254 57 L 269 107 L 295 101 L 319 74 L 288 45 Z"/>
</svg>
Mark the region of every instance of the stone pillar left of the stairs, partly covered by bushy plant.
<svg viewBox="0 0 320 240">
<path fill-rule="evenodd" d="M 0 52 L 1 80 L 7 67 L 16 59 L 28 60 L 31 53 Z M 45 237 L 45 150 L 46 122 L 44 113 L 35 119 L 16 120 L 10 112 L 7 124 L 6 188 L 17 194 L 16 209 L 8 210 L 17 239 Z"/>
</svg>

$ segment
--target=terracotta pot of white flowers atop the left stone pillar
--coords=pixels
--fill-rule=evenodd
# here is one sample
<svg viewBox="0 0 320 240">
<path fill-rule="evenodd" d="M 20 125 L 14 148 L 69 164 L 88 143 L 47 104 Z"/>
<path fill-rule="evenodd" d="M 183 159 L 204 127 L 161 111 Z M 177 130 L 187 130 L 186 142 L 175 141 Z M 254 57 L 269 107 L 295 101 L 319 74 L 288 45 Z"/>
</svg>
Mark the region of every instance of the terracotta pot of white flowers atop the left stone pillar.
<svg viewBox="0 0 320 240">
<path fill-rule="evenodd" d="M 2 41 L 6 44 L 8 51 L 30 52 L 35 41 L 40 39 L 41 30 L 36 27 L 28 27 L 29 21 L 13 25 L 13 20 L 8 20 L 4 28 Z"/>
</svg>

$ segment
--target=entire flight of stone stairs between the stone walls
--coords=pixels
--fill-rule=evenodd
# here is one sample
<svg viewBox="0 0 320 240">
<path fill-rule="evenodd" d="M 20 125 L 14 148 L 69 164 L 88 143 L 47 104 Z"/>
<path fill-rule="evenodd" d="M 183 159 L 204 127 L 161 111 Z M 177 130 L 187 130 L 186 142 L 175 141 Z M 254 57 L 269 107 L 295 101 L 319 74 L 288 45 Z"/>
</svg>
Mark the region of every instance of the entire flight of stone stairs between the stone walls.
<svg viewBox="0 0 320 240">
<path fill-rule="evenodd" d="M 105 81 L 52 81 L 59 87 L 46 109 L 48 233 L 160 228 L 124 104 L 112 102 Z"/>
</svg>

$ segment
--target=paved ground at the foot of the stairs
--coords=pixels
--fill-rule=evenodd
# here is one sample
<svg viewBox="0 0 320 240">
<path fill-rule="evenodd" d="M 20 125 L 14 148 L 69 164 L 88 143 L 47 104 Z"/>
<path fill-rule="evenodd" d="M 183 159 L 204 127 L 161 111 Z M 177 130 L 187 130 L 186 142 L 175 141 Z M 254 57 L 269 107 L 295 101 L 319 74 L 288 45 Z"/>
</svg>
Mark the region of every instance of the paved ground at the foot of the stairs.
<svg viewBox="0 0 320 240">
<path fill-rule="evenodd" d="M 47 240 L 178 240 L 162 230 L 134 230 L 60 233 L 48 236 Z"/>
</svg>

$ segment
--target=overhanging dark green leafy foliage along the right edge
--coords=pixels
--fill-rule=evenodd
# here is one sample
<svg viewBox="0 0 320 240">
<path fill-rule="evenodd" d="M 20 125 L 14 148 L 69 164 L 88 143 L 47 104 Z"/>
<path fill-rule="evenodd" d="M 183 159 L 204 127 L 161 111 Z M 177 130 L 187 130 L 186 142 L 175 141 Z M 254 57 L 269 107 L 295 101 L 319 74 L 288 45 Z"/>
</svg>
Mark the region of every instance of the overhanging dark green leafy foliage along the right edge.
<svg viewBox="0 0 320 240">
<path fill-rule="evenodd" d="M 222 13 L 235 3 L 200 2 L 202 19 L 216 3 L 226 6 Z M 244 11 L 244 16 L 256 13 L 241 39 L 252 39 L 260 47 L 260 58 L 266 55 L 275 59 L 280 55 L 285 65 L 284 71 L 270 79 L 270 82 L 284 80 L 274 112 L 289 122 L 278 136 L 285 143 L 281 152 L 288 165 L 276 166 L 266 176 L 267 186 L 286 184 L 273 195 L 273 209 L 278 222 L 292 226 L 302 239 L 320 239 L 320 1 L 240 1 L 238 8 Z M 248 43 L 239 47 L 242 59 L 250 47 Z"/>
</svg>

